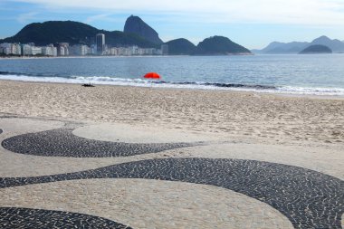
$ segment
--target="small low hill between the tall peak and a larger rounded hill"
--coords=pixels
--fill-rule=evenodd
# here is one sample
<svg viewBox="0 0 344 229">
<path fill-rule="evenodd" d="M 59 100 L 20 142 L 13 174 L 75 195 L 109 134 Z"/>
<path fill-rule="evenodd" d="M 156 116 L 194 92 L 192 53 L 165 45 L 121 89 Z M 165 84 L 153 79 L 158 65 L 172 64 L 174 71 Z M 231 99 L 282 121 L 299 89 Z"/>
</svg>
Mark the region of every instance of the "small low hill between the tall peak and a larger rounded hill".
<svg viewBox="0 0 344 229">
<path fill-rule="evenodd" d="M 179 38 L 167 42 L 168 53 L 172 55 L 191 55 L 196 52 L 196 45 L 185 38 Z"/>
</svg>

